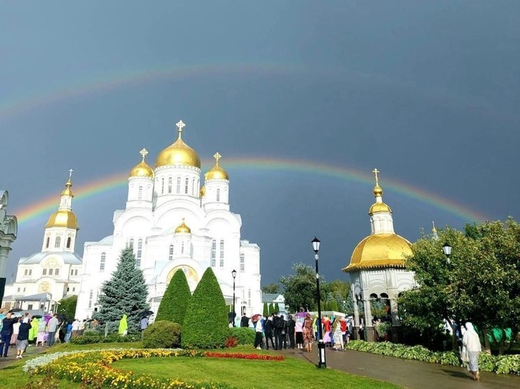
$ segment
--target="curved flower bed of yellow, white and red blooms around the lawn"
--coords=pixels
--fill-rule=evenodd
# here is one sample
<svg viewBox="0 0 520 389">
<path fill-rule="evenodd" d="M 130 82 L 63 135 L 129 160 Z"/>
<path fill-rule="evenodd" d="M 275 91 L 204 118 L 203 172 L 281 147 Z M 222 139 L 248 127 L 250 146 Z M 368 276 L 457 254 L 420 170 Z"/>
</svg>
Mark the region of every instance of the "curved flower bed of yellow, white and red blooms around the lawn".
<svg viewBox="0 0 520 389">
<path fill-rule="evenodd" d="M 188 389 L 214 388 L 229 389 L 221 383 L 185 383 L 176 379 L 156 379 L 153 376 L 137 375 L 133 372 L 117 370 L 110 365 L 116 360 L 125 358 L 151 357 L 217 357 L 258 360 L 283 360 L 273 356 L 237 353 L 211 353 L 197 350 L 171 349 L 101 349 L 89 351 L 69 351 L 40 356 L 29 360 L 23 367 L 24 372 L 46 374 L 59 379 L 86 383 L 89 387 L 101 388 L 157 388 Z M 270 358 L 265 358 L 270 357 Z"/>
</svg>

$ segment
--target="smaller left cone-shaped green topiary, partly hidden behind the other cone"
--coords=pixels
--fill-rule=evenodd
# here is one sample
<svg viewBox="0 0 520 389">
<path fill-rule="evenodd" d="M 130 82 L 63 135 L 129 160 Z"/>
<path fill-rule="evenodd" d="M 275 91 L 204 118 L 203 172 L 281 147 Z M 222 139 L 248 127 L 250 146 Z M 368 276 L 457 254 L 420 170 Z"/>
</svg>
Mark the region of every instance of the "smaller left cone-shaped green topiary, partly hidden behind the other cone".
<svg viewBox="0 0 520 389">
<path fill-rule="evenodd" d="M 184 271 L 176 271 L 166 288 L 165 295 L 162 296 L 155 321 L 167 320 L 182 325 L 191 296 Z"/>
</svg>

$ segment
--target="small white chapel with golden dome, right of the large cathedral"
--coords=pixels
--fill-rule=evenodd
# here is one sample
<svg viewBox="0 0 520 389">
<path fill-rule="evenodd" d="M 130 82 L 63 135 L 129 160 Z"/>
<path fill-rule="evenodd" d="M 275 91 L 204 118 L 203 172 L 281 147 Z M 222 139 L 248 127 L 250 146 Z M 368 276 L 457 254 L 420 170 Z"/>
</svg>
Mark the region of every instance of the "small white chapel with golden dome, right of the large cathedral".
<svg viewBox="0 0 520 389">
<path fill-rule="evenodd" d="M 397 311 L 397 297 L 415 285 L 413 272 L 405 269 L 406 257 L 412 254 L 411 243 L 394 231 L 392 209 L 383 202 L 383 189 L 379 186 L 377 169 L 374 197 L 376 201 L 369 208 L 372 233 L 355 247 L 349 266 L 343 271 L 350 274 L 354 303 L 355 333 L 360 323 L 365 327 L 365 340 L 374 341 L 372 303 L 380 302 L 386 307 L 385 316 L 391 317 L 392 337 L 397 336 L 400 326 Z M 363 317 L 360 317 L 358 303 L 362 303 Z"/>
</svg>

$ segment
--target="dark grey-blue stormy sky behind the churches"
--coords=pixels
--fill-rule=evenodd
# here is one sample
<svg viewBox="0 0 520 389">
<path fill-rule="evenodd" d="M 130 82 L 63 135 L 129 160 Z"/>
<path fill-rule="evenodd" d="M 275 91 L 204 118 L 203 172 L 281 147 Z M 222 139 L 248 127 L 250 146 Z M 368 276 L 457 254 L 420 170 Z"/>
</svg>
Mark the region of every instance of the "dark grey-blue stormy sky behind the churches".
<svg viewBox="0 0 520 389">
<path fill-rule="evenodd" d="M 397 180 L 519 219 L 519 1 L 0 2 L 0 188 L 8 213 L 128 171 L 175 138 L 208 160 L 305 160 Z M 162 74 L 160 76 L 160 74 Z M 148 77 L 146 77 L 148 75 Z M 208 164 L 203 166 L 203 173 Z M 372 186 L 289 170 L 229 169 L 262 283 L 313 263 L 329 280 L 369 234 Z M 471 218 L 386 187 L 395 229 Z M 84 241 L 113 230 L 124 188 L 75 199 Z M 8 263 L 40 250 L 20 223 Z"/>
</svg>

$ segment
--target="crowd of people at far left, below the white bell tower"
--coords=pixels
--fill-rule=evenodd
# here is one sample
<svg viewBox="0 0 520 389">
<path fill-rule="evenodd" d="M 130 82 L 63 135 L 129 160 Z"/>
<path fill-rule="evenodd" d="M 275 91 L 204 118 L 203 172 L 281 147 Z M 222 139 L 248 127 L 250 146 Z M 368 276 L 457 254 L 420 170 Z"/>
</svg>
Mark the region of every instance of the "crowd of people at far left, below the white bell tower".
<svg viewBox="0 0 520 389">
<path fill-rule="evenodd" d="M 70 342 L 71 338 L 83 334 L 86 325 L 85 320 L 67 320 L 57 314 L 33 316 L 29 312 L 8 312 L 1 314 L 0 319 L 0 356 L 7 357 L 12 347 L 17 350 L 16 358 L 23 358 L 30 344 L 52 347 L 56 342 Z"/>
</svg>

